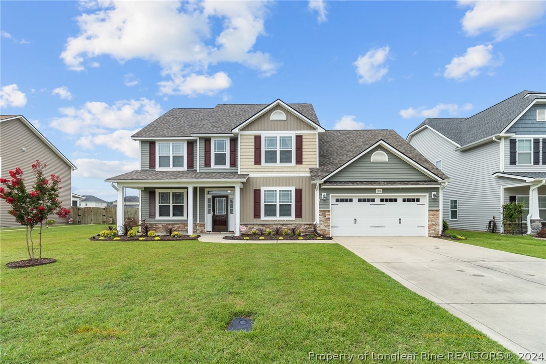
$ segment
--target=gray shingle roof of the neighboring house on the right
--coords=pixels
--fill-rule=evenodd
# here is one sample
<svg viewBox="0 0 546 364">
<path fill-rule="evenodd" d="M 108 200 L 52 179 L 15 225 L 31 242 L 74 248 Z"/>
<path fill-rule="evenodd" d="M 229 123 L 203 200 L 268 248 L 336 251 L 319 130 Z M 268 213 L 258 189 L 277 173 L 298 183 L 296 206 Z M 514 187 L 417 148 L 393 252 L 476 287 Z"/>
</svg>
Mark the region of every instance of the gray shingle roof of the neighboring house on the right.
<svg viewBox="0 0 546 364">
<path fill-rule="evenodd" d="M 529 95 L 542 93 L 543 95 Z M 529 95 L 526 97 L 526 95 Z M 537 98 L 546 98 L 546 93 L 521 91 L 470 118 L 431 118 L 423 121 L 413 131 L 423 125 L 430 125 L 436 131 L 460 145 L 501 133 L 527 106 Z"/>
</svg>

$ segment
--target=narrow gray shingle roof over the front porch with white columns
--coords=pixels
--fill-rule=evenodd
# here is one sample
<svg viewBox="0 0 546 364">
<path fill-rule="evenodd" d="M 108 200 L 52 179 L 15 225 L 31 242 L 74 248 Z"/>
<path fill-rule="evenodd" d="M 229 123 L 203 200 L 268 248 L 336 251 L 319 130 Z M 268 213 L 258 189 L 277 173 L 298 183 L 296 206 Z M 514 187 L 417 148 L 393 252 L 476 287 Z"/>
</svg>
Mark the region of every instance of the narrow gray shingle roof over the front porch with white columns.
<svg viewBox="0 0 546 364">
<path fill-rule="evenodd" d="M 245 180 L 248 174 L 237 172 L 199 172 L 196 171 L 132 171 L 110 177 L 106 181 L 116 180 L 207 180 L 207 179 L 242 179 Z"/>
</svg>

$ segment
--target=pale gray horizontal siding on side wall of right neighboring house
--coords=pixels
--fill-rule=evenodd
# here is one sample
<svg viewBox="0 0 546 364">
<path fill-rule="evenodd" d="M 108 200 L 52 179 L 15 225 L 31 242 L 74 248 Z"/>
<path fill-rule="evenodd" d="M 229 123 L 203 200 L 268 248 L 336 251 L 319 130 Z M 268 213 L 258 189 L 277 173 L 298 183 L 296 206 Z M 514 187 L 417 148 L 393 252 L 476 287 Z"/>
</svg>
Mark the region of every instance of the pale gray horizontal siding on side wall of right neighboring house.
<svg viewBox="0 0 546 364">
<path fill-rule="evenodd" d="M 495 216 L 501 221 L 501 186 L 521 181 L 492 176 L 500 169 L 500 145 L 489 142 L 465 151 L 425 128 L 410 144 L 432 163 L 442 160 L 442 171 L 452 180 L 442 191 L 442 212 L 450 228 L 485 231 Z M 449 201 L 458 200 L 458 219 L 450 219 Z"/>
</svg>

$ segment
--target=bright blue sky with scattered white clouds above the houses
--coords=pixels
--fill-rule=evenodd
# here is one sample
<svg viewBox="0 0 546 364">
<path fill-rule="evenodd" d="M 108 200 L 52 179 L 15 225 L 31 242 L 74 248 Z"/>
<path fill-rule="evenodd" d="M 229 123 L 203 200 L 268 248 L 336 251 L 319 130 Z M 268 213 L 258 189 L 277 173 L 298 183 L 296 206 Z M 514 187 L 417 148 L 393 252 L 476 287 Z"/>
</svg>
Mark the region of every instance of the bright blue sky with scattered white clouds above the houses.
<svg viewBox="0 0 546 364">
<path fill-rule="evenodd" d="M 326 128 L 394 129 L 546 91 L 545 2 L 0 2 L 2 114 L 79 169 L 138 168 L 129 136 L 176 107 L 312 103 Z M 15 167 L 15 166 L 14 166 Z"/>
</svg>

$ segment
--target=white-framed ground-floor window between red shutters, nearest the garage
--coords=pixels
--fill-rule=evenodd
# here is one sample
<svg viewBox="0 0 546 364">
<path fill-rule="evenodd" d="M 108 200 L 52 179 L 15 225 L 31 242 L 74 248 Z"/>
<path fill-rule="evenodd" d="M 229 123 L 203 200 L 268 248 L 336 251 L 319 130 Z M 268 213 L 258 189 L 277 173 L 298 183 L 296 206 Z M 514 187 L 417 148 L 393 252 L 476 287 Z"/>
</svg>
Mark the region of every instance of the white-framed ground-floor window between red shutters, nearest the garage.
<svg viewBox="0 0 546 364">
<path fill-rule="evenodd" d="M 262 219 L 294 219 L 294 191 L 293 187 L 263 187 Z"/>
</svg>

